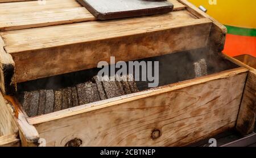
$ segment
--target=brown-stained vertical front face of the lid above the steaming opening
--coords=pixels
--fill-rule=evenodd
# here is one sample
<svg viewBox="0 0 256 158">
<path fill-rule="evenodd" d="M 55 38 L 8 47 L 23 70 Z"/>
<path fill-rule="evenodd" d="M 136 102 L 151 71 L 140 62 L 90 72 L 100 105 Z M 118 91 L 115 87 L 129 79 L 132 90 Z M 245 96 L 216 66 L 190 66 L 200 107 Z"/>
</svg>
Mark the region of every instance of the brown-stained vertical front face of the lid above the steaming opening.
<svg viewBox="0 0 256 158">
<path fill-rule="evenodd" d="M 97 67 L 100 61 L 110 63 L 111 56 L 115 57 L 115 62 L 132 61 L 203 48 L 207 45 L 210 27 L 211 23 L 200 22 L 132 36 L 12 53 L 16 82 L 90 69 Z"/>
</svg>

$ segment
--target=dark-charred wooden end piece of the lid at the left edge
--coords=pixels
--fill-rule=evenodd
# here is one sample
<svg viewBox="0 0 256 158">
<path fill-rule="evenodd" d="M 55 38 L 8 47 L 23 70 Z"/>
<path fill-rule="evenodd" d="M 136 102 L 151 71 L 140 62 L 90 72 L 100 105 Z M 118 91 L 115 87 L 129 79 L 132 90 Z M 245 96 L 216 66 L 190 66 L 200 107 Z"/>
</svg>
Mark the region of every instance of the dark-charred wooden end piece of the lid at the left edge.
<svg viewBox="0 0 256 158">
<path fill-rule="evenodd" d="M 0 36 L 0 88 L 5 94 L 16 91 L 14 76 L 14 61 L 10 54 L 5 52 L 5 43 Z"/>
</svg>

